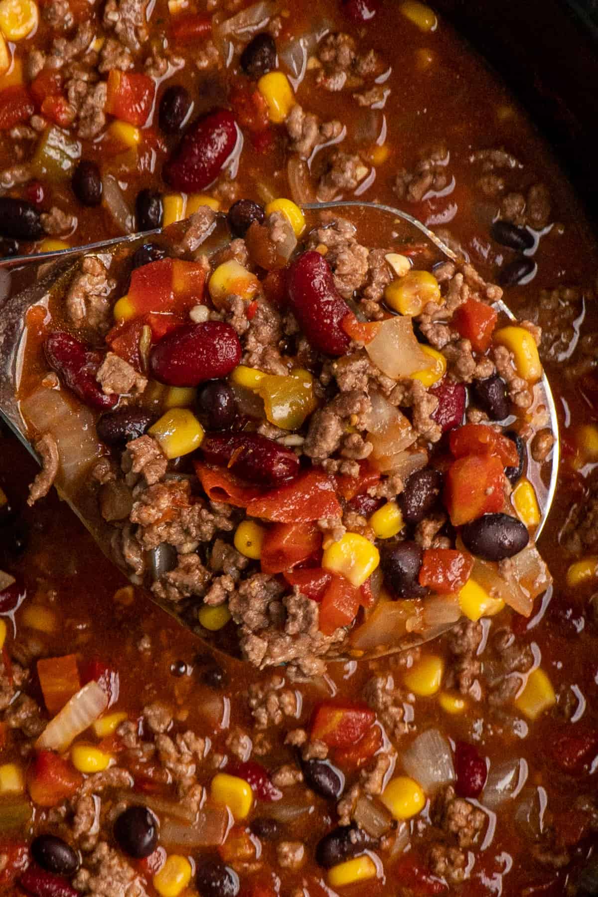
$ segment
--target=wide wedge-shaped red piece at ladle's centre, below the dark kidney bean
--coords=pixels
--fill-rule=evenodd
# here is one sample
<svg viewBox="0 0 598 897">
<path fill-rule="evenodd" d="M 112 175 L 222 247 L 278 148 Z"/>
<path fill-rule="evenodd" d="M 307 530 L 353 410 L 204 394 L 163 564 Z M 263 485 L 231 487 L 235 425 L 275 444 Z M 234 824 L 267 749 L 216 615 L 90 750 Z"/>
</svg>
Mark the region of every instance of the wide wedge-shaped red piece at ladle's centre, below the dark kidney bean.
<svg viewBox="0 0 598 897">
<path fill-rule="evenodd" d="M 310 470 L 292 483 L 251 501 L 247 514 L 276 523 L 308 523 L 324 517 L 341 517 L 342 509 L 333 480 L 320 470 Z"/>
</svg>

